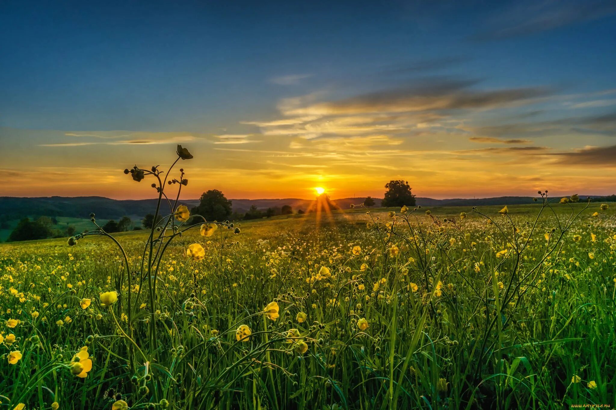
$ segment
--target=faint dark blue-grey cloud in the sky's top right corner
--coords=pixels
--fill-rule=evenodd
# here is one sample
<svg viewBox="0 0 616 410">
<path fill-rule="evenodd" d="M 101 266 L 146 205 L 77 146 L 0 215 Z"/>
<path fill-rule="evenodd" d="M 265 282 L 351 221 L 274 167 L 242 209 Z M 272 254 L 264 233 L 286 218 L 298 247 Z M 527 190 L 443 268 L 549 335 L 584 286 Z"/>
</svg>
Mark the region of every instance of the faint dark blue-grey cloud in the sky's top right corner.
<svg viewBox="0 0 616 410">
<path fill-rule="evenodd" d="M 474 36 L 485 41 L 526 36 L 559 27 L 599 20 L 616 14 L 612 0 L 562 0 L 514 2 L 493 16 L 487 30 Z"/>
</svg>

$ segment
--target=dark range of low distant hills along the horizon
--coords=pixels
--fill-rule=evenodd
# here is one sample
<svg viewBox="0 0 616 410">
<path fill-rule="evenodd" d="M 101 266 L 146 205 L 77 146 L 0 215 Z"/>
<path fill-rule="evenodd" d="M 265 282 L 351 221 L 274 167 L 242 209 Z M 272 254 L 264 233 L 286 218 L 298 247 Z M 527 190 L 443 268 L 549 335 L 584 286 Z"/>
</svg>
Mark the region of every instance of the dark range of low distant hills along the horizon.
<svg viewBox="0 0 616 410">
<path fill-rule="evenodd" d="M 590 195 L 599 198 L 599 195 Z M 580 195 L 585 198 L 586 195 Z M 351 204 L 359 205 L 365 197 L 336 199 L 340 208 L 348 209 Z M 381 199 L 375 198 L 375 207 L 381 206 Z M 533 197 L 495 197 L 478 199 L 432 199 L 417 197 L 417 205 L 423 207 L 455 207 L 455 206 L 480 206 L 480 205 L 517 205 L 533 203 Z M 293 211 L 307 210 L 312 200 L 298 198 L 284 199 L 233 199 L 233 211 L 245 213 L 255 205 L 263 210 L 270 207 L 282 207 L 291 205 Z M 198 199 L 185 199 L 180 203 L 192 208 L 198 205 Z M 0 197 L 0 216 L 4 219 L 21 219 L 23 216 L 63 216 L 68 218 L 88 218 L 91 212 L 98 219 L 119 219 L 129 216 L 132 219 L 140 219 L 147 213 L 153 213 L 156 207 L 156 199 L 140 200 L 115 200 L 105 197 Z"/>
</svg>

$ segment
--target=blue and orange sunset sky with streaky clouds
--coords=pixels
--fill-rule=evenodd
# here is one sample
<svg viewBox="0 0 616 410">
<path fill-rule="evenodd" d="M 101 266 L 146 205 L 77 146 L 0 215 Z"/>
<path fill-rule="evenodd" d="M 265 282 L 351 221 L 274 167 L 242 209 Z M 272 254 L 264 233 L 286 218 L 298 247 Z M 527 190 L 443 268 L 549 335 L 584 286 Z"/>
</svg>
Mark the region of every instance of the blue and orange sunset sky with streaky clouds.
<svg viewBox="0 0 616 410">
<path fill-rule="evenodd" d="M 616 193 L 616 2 L 8 1 L 0 195 Z"/>
</svg>

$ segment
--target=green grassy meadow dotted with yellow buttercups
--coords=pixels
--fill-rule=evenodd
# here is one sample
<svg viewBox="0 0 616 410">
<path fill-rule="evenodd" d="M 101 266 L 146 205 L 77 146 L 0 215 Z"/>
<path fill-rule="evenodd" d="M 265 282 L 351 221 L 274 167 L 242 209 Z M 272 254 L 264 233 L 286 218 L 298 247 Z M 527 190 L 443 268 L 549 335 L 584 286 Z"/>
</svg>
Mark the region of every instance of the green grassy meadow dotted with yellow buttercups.
<svg viewBox="0 0 616 410">
<path fill-rule="evenodd" d="M 0 244 L 0 409 L 613 408 L 616 207 L 558 200 Z"/>
</svg>

